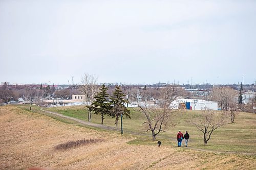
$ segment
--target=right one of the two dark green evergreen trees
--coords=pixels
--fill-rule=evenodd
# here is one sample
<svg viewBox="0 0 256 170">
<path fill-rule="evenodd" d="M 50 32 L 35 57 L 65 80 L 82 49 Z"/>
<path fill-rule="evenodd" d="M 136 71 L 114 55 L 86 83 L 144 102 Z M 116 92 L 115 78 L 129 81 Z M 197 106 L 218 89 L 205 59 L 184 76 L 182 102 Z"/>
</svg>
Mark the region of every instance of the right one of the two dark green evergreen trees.
<svg viewBox="0 0 256 170">
<path fill-rule="evenodd" d="M 125 94 L 122 92 L 120 88 L 121 88 L 120 85 L 116 86 L 116 89 L 110 98 L 111 105 L 112 105 L 111 116 L 116 118 L 116 122 L 115 122 L 116 128 L 118 126 L 118 120 L 121 115 L 125 115 L 126 118 L 128 117 L 131 118 L 131 116 L 129 115 L 131 113 L 130 110 L 128 110 L 124 105 L 128 101 L 124 100 Z"/>
</svg>

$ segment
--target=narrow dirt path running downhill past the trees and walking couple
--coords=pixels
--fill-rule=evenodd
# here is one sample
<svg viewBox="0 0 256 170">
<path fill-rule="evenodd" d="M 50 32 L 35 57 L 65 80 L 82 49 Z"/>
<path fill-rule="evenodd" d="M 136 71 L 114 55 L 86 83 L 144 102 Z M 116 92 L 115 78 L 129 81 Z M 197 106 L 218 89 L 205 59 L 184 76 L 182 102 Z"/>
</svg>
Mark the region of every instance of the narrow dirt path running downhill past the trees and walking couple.
<svg viewBox="0 0 256 170">
<path fill-rule="evenodd" d="M 88 126 L 91 126 L 91 127 L 95 127 L 95 128 L 101 128 L 101 129 L 105 129 L 105 130 L 115 130 L 116 131 L 116 128 L 114 127 L 110 127 L 110 126 L 105 126 L 105 125 L 99 125 L 99 124 L 94 124 L 94 123 L 91 123 L 91 122 L 86 122 L 86 121 L 83 121 L 83 120 L 80 120 L 78 118 L 74 118 L 74 117 L 70 117 L 70 116 L 65 116 L 63 114 L 60 114 L 60 113 L 56 113 L 56 112 L 51 112 L 51 111 L 47 111 L 47 110 L 44 110 L 44 109 L 40 109 L 41 111 L 44 111 L 44 112 L 47 112 L 47 113 L 50 113 L 50 114 L 55 114 L 57 116 L 60 116 L 60 117 L 65 117 L 65 118 L 68 118 L 68 119 L 72 119 L 72 120 L 75 120 L 76 122 L 79 122 L 83 125 L 88 125 Z M 127 132 L 126 133 L 128 134 L 132 134 L 132 135 L 141 135 L 139 133 L 134 133 L 134 132 Z M 176 139 L 174 138 L 168 138 L 168 139 L 171 139 L 173 141 L 176 142 Z M 241 154 L 241 155 L 251 155 L 251 156 L 256 156 L 256 154 L 251 154 L 251 153 L 238 153 L 238 152 L 218 152 L 218 151 L 208 151 L 208 150 L 203 150 L 203 149 L 197 149 L 197 148 L 190 148 L 190 147 L 187 147 L 185 149 L 191 149 L 191 150 L 196 150 L 196 151 L 202 151 L 202 152 L 211 152 L 211 153 L 219 153 L 219 154 Z"/>
</svg>

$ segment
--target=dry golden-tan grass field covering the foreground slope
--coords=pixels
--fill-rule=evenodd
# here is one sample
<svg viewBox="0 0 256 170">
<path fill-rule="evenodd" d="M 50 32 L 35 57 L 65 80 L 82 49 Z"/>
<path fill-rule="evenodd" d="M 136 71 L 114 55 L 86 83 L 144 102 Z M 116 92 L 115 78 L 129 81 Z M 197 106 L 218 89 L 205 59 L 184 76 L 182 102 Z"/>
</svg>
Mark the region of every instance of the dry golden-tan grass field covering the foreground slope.
<svg viewBox="0 0 256 170">
<path fill-rule="evenodd" d="M 255 169 L 256 157 L 172 145 L 127 144 L 133 136 L 65 124 L 14 106 L 0 107 L 0 169 Z M 70 140 L 100 139 L 67 150 Z"/>
</svg>

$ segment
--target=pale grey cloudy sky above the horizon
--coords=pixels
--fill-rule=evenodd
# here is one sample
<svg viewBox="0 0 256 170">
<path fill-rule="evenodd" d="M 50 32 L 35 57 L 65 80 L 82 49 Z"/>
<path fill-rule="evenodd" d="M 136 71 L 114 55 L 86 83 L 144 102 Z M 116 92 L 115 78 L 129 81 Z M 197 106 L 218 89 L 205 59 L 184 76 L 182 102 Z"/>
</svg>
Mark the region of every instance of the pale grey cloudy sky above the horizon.
<svg viewBox="0 0 256 170">
<path fill-rule="evenodd" d="M 256 1 L 0 0 L 0 82 L 256 80 Z"/>
</svg>

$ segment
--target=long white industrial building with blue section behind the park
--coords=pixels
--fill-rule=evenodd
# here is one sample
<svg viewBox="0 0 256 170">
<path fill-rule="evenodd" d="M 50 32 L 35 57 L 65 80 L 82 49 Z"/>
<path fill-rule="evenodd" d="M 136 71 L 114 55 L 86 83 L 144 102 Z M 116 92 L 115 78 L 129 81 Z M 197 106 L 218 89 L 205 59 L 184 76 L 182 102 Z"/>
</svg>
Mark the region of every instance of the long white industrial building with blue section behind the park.
<svg viewBox="0 0 256 170">
<path fill-rule="evenodd" d="M 204 108 L 211 110 L 218 110 L 218 102 L 198 100 L 198 99 L 178 99 L 173 101 L 170 104 L 170 107 L 173 109 L 178 109 L 180 103 L 184 103 L 186 106 L 189 106 L 191 110 L 203 110 Z"/>
</svg>

